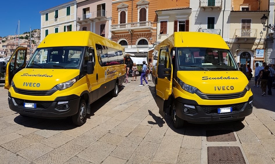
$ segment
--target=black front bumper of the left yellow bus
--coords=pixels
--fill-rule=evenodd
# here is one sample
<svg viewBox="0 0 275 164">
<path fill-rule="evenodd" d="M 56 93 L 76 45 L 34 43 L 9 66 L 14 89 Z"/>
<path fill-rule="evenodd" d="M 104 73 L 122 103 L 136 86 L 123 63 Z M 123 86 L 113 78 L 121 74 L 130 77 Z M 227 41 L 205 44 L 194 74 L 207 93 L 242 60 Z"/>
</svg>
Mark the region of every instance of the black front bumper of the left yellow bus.
<svg viewBox="0 0 275 164">
<path fill-rule="evenodd" d="M 26 108 L 25 103 L 36 103 L 37 108 Z M 26 116 L 39 118 L 64 118 L 75 115 L 78 112 L 80 97 L 69 95 L 57 97 L 55 101 L 24 100 L 10 96 L 8 93 L 8 104 L 11 110 Z"/>
</svg>

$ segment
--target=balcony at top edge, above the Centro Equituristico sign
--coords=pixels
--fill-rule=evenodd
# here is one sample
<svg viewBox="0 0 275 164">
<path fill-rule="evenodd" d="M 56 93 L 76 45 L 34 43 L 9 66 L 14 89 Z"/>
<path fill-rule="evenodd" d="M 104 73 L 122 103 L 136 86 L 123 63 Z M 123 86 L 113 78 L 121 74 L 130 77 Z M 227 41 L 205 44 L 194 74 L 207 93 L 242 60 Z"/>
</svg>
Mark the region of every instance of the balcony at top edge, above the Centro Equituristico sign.
<svg viewBox="0 0 275 164">
<path fill-rule="evenodd" d="M 221 11 L 222 10 L 222 0 L 200 0 L 199 8 L 207 11 Z"/>
</svg>

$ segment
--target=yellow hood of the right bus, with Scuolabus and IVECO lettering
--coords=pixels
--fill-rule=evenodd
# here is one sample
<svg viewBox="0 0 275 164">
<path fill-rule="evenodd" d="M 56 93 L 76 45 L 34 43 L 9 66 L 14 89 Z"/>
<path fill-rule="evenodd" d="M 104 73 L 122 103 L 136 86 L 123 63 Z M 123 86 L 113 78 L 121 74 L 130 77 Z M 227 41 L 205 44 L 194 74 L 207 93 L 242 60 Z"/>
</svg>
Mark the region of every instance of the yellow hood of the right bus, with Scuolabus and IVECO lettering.
<svg viewBox="0 0 275 164">
<path fill-rule="evenodd" d="M 177 71 L 177 77 L 206 94 L 238 93 L 248 84 L 240 71 Z"/>
</svg>

